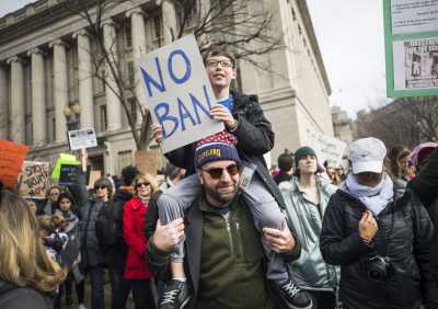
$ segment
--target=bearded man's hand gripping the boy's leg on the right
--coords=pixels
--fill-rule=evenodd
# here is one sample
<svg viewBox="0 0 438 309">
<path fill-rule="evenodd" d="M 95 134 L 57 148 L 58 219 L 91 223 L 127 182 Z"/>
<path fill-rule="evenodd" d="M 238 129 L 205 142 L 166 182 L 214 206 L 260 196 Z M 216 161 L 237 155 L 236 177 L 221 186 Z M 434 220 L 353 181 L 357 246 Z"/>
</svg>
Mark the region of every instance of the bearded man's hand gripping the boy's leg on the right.
<svg viewBox="0 0 438 309">
<path fill-rule="evenodd" d="M 285 220 L 283 221 L 281 230 L 263 228 L 263 242 L 277 253 L 289 253 L 296 244 Z"/>
</svg>

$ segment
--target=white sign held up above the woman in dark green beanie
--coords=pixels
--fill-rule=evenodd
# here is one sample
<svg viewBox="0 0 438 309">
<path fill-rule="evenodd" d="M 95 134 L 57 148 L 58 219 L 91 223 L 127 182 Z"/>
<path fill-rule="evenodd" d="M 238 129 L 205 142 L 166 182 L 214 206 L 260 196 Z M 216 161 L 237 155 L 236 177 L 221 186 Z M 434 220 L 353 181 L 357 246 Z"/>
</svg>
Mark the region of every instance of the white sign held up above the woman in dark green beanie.
<svg viewBox="0 0 438 309">
<path fill-rule="evenodd" d="M 318 161 L 323 163 L 325 160 L 327 160 L 335 164 L 335 167 L 339 165 L 345 149 L 347 148 L 347 144 L 337 138 L 311 130 L 309 128 L 307 131 L 309 137 L 309 146 L 316 151 Z"/>
</svg>

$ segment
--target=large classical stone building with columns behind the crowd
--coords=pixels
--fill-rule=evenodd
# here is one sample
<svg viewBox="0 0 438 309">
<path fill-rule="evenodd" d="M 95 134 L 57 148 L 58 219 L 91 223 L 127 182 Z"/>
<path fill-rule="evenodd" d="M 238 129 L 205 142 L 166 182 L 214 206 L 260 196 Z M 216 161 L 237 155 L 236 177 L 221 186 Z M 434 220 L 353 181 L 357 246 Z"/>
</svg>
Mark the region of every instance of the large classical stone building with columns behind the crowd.
<svg viewBox="0 0 438 309">
<path fill-rule="evenodd" d="M 284 48 L 262 56 L 269 72 L 239 66 L 241 90 L 260 95 L 274 125 L 276 158 L 312 131 L 333 136 L 331 88 L 306 1 L 251 1 L 275 13 L 274 30 L 283 34 Z M 67 130 L 77 122 L 96 129 L 93 168 L 119 173 L 136 151 L 127 118 L 111 82 L 92 77 L 97 46 L 87 22 L 62 2 L 38 0 L 0 18 L 0 139 L 31 145 L 28 159 L 54 161 L 68 151 Z M 171 42 L 165 25 L 176 24 L 175 14 L 172 0 L 125 1 L 106 12 L 105 44 L 118 48 L 127 78 L 135 76 L 134 59 Z"/>
</svg>

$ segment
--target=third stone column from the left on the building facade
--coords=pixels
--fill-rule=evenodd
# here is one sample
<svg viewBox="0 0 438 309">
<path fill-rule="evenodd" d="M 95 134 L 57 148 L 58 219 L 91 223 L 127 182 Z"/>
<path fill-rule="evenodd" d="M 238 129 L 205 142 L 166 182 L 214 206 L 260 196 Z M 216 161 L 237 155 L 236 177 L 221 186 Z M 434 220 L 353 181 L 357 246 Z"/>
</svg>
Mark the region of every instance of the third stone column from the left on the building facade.
<svg viewBox="0 0 438 309">
<path fill-rule="evenodd" d="M 64 110 L 68 105 L 67 45 L 61 39 L 49 44 L 54 48 L 55 141 L 67 140 Z"/>
</svg>

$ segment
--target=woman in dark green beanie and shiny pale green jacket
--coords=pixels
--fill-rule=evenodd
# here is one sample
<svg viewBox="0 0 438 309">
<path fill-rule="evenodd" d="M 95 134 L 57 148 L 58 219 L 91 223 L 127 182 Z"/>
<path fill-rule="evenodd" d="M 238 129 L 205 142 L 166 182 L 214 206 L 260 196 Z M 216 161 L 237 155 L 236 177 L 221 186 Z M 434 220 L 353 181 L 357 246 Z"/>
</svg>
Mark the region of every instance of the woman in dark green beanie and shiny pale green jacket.
<svg viewBox="0 0 438 309">
<path fill-rule="evenodd" d="M 337 187 L 319 171 L 315 151 L 301 147 L 295 153 L 293 176 L 281 182 L 279 188 L 301 243 L 300 259 L 291 263 L 291 271 L 312 298 L 314 309 L 333 309 L 339 270 L 322 259 L 320 233 L 328 199 Z"/>
</svg>

